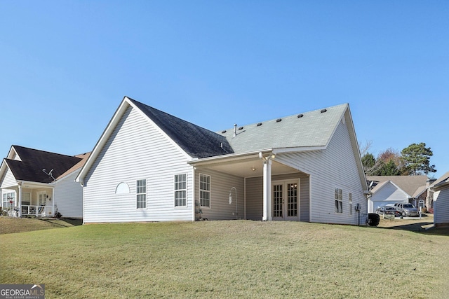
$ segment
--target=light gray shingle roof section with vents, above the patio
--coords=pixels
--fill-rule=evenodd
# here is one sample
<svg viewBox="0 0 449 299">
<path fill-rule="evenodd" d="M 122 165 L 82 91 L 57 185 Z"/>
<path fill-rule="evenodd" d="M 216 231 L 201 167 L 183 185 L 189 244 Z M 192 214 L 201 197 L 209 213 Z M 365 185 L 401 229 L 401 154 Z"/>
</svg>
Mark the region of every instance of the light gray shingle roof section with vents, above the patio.
<svg viewBox="0 0 449 299">
<path fill-rule="evenodd" d="M 326 146 L 347 107 L 348 104 L 341 104 L 262 123 L 243 125 L 241 126 L 243 128 L 239 126 L 236 137 L 234 127 L 218 134 L 226 137 L 235 153 L 267 148 Z"/>
</svg>

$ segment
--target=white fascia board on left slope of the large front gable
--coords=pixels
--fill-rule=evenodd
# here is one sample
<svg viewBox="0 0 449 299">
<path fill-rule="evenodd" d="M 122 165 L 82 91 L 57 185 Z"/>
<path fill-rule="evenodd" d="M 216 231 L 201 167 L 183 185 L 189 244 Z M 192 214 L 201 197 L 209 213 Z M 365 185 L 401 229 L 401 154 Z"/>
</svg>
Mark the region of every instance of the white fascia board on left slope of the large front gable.
<svg viewBox="0 0 449 299">
<path fill-rule="evenodd" d="M 86 164 L 83 166 L 83 168 L 81 168 L 81 172 L 79 172 L 78 176 L 76 176 L 76 182 L 83 182 L 84 177 L 88 173 L 89 169 L 91 169 L 93 162 L 95 162 L 95 160 L 97 159 L 103 146 L 105 146 L 107 139 L 109 139 L 112 132 L 114 132 L 116 125 L 121 120 L 121 116 L 123 116 L 123 113 L 125 113 L 129 105 L 130 102 L 128 101 L 128 97 L 124 97 L 121 101 L 121 104 L 119 105 L 119 108 L 117 108 L 117 110 L 115 111 L 114 116 L 112 116 L 111 120 L 109 120 L 109 123 L 107 124 L 106 129 L 103 131 L 100 139 L 98 139 L 97 144 L 95 144 L 91 155 L 86 161 Z"/>
</svg>

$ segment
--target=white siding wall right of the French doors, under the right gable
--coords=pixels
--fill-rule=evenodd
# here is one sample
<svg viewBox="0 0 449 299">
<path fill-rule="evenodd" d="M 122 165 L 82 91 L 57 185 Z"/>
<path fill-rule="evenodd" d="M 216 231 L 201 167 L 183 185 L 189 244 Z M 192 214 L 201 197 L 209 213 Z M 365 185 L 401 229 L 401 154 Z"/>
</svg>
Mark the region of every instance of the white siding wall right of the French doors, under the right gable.
<svg viewBox="0 0 449 299">
<path fill-rule="evenodd" d="M 352 193 L 352 204 L 361 204 L 360 223 L 365 223 L 368 204 L 363 195 L 347 123 L 348 121 L 339 123 L 333 138 L 324 150 L 276 155 L 277 161 L 310 174 L 311 219 L 309 221 L 358 223 L 358 213 L 352 215 L 335 213 L 335 186 L 340 186 L 346 194 Z"/>
</svg>

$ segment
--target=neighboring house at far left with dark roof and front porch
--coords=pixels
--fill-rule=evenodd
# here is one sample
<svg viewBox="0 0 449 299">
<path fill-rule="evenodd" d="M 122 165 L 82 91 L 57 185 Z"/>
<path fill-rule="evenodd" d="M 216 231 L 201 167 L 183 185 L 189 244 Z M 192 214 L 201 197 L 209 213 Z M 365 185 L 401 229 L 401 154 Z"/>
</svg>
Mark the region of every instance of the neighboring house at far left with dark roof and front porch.
<svg viewBox="0 0 449 299">
<path fill-rule="evenodd" d="M 11 146 L 0 167 L 2 209 L 16 216 L 53 217 L 58 211 L 81 218 L 83 190 L 74 180 L 88 155 Z"/>
</svg>

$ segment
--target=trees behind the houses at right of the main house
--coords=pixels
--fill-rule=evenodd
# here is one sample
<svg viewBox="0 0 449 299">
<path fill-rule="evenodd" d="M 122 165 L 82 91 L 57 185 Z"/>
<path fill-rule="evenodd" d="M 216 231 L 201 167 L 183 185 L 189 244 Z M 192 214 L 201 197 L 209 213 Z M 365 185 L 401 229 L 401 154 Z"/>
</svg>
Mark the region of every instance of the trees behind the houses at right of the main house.
<svg viewBox="0 0 449 299">
<path fill-rule="evenodd" d="M 377 158 L 368 152 L 370 143 L 360 146 L 363 170 L 367 176 L 416 176 L 436 172 L 435 165 L 430 165 L 434 155 L 424 142 L 410 144 L 402 151 L 387 148 Z"/>
</svg>

